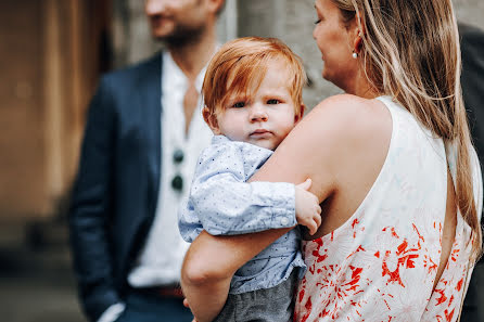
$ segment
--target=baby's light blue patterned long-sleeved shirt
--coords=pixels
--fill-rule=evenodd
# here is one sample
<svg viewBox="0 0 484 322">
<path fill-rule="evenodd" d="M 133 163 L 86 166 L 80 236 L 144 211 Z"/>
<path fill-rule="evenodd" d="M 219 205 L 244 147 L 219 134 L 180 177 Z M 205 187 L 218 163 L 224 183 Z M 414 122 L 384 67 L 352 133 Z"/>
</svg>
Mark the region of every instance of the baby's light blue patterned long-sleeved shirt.
<svg viewBox="0 0 484 322">
<path fill-rule="evenodd" d="M 295 188 L 285 182 L 246 182 L 272 151 L 216 136 L 199 157 L 190 195 L 178 212 L 181 236 L 191 243 L 206 230 L 233 235 L 297 224 Z M 300 252 L 298 228 L 289 231 L 234 274 L 230 293 L 269 288 L 285 281 L 294 269 L 306 271 Z"/>
</svg>

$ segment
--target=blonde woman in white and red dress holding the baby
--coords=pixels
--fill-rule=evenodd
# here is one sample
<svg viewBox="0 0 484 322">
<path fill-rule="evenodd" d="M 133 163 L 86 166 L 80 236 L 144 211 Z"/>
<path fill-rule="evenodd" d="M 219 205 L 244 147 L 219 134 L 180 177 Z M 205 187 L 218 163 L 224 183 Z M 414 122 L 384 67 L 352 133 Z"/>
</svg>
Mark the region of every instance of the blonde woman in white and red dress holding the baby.
<svg viewBox="0 0 484 322">
<path fill-rule="evenodd" d="M 482 178 L 451 2 L 315 8 L 322 76 L 346 94 L 318 104 L 252 178 L 309 177 L 321 202 L 294 320 L 456 321 L 481 254 Z M 199 321 L 216 317 L 231 275 L 284 232 L 194 241 L 182 286 Z"/>
</svg>

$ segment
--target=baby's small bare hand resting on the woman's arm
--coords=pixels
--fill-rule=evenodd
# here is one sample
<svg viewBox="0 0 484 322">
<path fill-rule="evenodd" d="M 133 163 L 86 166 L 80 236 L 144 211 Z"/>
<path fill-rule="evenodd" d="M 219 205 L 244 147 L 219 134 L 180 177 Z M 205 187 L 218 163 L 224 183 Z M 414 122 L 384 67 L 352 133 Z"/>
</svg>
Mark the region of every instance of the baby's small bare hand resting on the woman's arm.
<svg viewBox="0 0 484 322">
<path fill-rule="evenodd" d="M 309 229 L 314 235 L 321 224 L 321 207 L 316 195 L 309 192 L 311 180 L 307 179 L 296 185 L 296 220 L 298 224 Z"/>
</svg>

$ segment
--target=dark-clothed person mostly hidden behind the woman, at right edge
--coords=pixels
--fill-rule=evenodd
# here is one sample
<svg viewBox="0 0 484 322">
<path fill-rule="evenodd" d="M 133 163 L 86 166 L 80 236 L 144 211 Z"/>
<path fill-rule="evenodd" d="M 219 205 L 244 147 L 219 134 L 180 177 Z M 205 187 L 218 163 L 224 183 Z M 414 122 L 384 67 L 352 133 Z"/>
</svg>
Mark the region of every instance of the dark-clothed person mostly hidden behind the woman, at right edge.
<svg viewBox="0 0 484 322">
<path fill-rule="evenodd" d="M 462 51 L 462 93 L 475 150 L 484 163 L 484 31 L 459 24 Z M 484 261 L 474 268 L 462 309 L 462 322 L 484 321 Z"/>
</svg>

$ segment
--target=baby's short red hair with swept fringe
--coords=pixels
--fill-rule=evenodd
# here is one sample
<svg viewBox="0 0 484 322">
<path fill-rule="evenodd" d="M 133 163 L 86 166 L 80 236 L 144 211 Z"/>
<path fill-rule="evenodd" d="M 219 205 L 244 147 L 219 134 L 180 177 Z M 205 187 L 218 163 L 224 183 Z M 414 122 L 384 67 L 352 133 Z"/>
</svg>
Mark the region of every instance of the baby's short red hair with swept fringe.
<svg viewBox="0 0 484 322">
<path fill-rule="evenodd" d="M 263 81 L 269 62 L 280 62 L 288 77 L 288 89 L 294 101 L 295 114 L 303 106 L 306 73 L 301 59 L 277 38 L 244 37 L 225 43 L 207 66 L 202 87 L 205 107 L 212 115 L 222 112 L 229 96 L 250 95 Z"/>
</svg>

